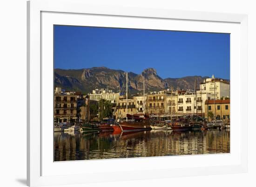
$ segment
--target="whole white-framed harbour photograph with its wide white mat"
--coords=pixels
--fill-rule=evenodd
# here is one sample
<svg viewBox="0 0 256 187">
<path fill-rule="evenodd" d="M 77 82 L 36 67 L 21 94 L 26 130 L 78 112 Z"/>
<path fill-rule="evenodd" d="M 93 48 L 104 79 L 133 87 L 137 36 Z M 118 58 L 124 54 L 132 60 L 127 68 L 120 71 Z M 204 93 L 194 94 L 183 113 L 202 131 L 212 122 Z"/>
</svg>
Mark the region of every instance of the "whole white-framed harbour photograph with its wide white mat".
<svg viewBox="0 0 256 187">
<path fill-rule="evenodd" d="M 247 172 L 247 19 L 28 1 L 27 184 Z"/>
</svg>

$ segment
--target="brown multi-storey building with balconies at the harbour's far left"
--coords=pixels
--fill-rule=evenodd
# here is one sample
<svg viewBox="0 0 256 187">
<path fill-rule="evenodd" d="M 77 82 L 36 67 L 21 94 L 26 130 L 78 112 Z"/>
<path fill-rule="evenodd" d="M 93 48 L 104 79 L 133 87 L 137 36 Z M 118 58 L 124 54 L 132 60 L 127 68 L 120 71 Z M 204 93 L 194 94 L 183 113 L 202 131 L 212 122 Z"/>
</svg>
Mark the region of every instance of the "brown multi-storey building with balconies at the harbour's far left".
<svg viewBox="0 0 256 187">
<path fill-rule="evenodd" d="M 54 93 L 54 122 L 75 122 L 77 117 L 77 97 L 74 93 L 63 93 L 56 87 Z"/>
</svg>

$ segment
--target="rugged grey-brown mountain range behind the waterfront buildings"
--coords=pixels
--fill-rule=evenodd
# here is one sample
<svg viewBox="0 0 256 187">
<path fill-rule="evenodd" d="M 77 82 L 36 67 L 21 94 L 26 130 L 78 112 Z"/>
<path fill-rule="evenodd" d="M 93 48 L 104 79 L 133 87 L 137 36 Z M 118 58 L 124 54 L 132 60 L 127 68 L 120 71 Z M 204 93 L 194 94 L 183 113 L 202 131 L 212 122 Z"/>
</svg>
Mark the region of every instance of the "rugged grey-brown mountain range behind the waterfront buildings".
<svg viewBox="0 0 256 187">
<path fill-rule="evenodd" d="M 171 73 L 170 73 L 171 74 Z M 128 72 L 128 86 L 130 93 L 145 91 L 160 91 L 163 89 L 194 89 L 195 78 L 197 87 L 206 78 L 202 76 L 187 76 L 182 78 L 162 79 L 154 68 L 147 68 L 141 74 Z M 54 87 L 61 87 L 68 91 L 91 93 L 95 88 L 108 88 L 114 92 L 125 90 L 126 73 L 122 70 L 107 67 L 92 67 L 86 69 L 54 69 Z"/>
</svg>

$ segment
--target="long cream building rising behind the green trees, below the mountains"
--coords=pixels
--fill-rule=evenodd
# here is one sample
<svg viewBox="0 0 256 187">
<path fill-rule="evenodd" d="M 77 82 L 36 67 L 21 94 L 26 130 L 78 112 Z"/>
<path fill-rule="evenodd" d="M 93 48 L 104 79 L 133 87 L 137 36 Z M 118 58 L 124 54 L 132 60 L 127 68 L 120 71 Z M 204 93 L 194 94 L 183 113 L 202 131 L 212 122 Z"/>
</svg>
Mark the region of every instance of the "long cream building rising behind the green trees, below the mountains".
<svg viewBox="0 0 256 187">
<path fill-rule="evenodd" d="M 89 93 L 89 100 L 109 100 L 111 103 L 117 103 L 119 100 L 119 93 L 114 93 L 108 89 L 95 89 L 92 93 Z"/>
</svg>

